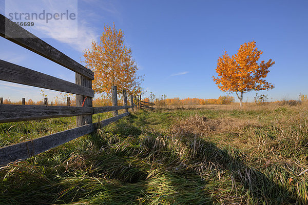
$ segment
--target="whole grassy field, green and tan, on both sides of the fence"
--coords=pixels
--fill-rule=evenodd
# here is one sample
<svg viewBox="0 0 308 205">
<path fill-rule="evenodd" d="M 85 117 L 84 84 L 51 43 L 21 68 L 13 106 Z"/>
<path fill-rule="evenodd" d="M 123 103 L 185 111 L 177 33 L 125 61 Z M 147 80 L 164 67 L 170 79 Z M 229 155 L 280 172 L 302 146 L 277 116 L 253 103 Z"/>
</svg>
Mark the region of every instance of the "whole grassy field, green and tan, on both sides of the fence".
<svg viewBox="0 0 308 205">
<path fill-rule="evenodd" d="M 74 126 L 0 124 L 1 145 Z M 307 162 L 304 105 L 137 111 L 1 168 L 0 204 L 307 204 Z"/>
</svg>

